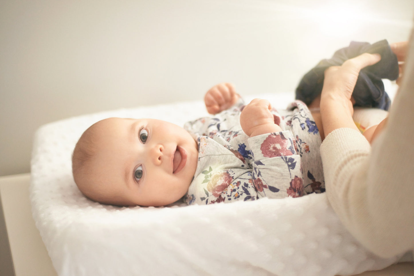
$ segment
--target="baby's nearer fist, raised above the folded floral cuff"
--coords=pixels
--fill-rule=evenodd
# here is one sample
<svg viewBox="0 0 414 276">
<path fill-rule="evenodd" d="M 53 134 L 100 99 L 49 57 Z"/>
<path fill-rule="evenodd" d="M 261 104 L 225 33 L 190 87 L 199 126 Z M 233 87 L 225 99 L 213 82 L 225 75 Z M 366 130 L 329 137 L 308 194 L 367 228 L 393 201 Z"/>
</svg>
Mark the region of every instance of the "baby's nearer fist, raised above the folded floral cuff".
<svg viewBox="0 0 414 276">
<path fill-rule="evenodd" d="M 243 108 L 240 114 L 240 125 L 249 137 L 279 132 L 282 129 L 274 123 L 272 106 L 269 101 L 255 98 Z"/>
</svg>

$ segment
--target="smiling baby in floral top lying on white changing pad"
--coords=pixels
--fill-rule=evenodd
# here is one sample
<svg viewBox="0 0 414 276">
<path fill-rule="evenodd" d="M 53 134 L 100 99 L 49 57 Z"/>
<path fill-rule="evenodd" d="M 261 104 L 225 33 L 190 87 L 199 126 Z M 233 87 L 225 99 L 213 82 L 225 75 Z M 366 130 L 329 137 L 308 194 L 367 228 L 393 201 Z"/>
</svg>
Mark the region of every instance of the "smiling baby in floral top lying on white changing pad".
<svg viewBox="0 0 414 276">
<path fill-rule="evenodd" d="M 79 190 L 118 206 L 301 197 L 325 190 L 318 112 L 301 101 L 287 110 L 275 110 L 263 99 L 244 106 L 229 83 L 213 86 L 204 100 L 216 116 L 184 128 L 125 118 L 89 127 L 72 156 Z M 375 127 L 367 130 L 368 140 L 373 132 Z"/>
</svg>

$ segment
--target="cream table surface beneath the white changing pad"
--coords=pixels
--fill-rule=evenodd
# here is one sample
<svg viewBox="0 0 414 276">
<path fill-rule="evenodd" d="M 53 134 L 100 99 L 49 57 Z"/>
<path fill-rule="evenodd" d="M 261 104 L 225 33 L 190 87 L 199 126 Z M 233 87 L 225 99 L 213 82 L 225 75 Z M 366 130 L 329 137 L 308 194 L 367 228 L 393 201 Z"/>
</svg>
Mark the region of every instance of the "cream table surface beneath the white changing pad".
<svg viewBox="0 0 414 276">
<path fill-rule="evenodd" d="M 57 275 L 31 215 L 29 185 L 29 173 L 0 177 L 0 211 L 4 214 L 4 221 L 0 221 L 0 238 L 4 240 L 8 236 L 10 245 L 10 251 L 7 246 L 0 247 L 0 256 L 7 262 L 11 252 L 12 259 L 11 265 L 0 266 L 2 276 Z M 3 216 L 0 219 L 3 220 Z M 358 275 L 414 276 L 414 266 L 405 262 Z"/>
</svg>

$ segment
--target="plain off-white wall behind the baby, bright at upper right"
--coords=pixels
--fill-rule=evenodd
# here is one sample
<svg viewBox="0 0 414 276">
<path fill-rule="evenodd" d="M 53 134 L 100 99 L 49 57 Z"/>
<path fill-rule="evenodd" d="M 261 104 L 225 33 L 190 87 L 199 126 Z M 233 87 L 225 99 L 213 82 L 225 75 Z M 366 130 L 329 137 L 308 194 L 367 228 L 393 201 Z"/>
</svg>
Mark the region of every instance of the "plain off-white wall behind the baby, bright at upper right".
<svg viewBox="0 0 414 276">
<path fill-rule="evenodd" d="M 29 172 L 47 122 L 224 81 L 294 91 L 351 40 L 407 40 L 413 14 L 412 0 L 0 0 L 0 175 Z"/>
</svg>

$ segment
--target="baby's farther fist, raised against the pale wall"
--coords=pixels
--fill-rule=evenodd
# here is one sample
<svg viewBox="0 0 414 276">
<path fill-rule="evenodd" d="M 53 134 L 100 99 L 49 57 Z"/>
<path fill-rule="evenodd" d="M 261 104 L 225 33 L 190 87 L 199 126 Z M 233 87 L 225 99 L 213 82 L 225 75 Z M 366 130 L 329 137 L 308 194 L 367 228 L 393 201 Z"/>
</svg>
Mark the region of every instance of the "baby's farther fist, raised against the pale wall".
<svg viewBox="0 0 414 276">
<path fill-rule="evenodd" d="M 204 103 L 207 112 L 214 115 L 233 106 L 238 98 L 239 96 L 234 86 L 224 82 L 213 86 L 207 91 L 204 96 Z"/>
</svg>

